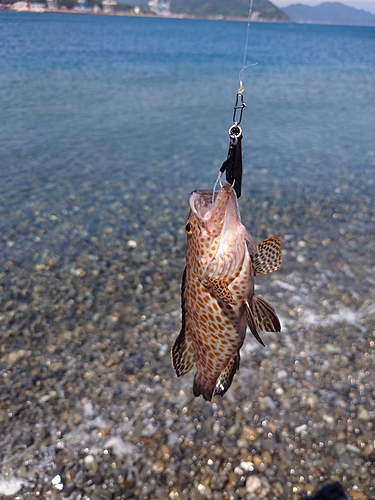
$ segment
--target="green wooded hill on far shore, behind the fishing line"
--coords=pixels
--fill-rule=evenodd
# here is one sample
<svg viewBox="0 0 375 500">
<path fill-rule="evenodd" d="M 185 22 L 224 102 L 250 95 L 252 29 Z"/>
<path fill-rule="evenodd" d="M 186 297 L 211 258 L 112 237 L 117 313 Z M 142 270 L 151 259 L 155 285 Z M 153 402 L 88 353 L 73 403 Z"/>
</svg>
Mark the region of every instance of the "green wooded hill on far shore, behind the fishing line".
<svg viewBox="0 0 375 500">
<path fill-rule="evenodd" d="M 249 15 L 249 0 L 171 0 L 173 14 L 196 17 L 243 17 Z M 269 0 L 254 0 L 253 13 L 259 20 L 288 21 L 288 16 Z"/>
</svg>

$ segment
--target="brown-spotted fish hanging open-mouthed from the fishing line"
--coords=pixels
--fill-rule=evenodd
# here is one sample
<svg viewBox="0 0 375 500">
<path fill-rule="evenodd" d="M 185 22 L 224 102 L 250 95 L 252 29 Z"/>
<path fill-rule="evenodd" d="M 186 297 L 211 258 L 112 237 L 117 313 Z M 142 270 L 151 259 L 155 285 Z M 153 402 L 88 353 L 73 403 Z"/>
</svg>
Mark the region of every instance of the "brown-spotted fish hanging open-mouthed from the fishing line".
<svg viewBox="0 0 375 500">
<path fill-rule="evenodd" d="M 254 277 L 281 265 L 281 238 L 255 245 L 230 184 L 193 191 L 189 205 L 181 330 L 171 357 L 178 377 L 196 369 L 193 393 L 211 401 L 239 370 L 247 327 L 263 346 L 259 331 L 281 330 L 273 306 L 254 293 Z"/>
</svg>

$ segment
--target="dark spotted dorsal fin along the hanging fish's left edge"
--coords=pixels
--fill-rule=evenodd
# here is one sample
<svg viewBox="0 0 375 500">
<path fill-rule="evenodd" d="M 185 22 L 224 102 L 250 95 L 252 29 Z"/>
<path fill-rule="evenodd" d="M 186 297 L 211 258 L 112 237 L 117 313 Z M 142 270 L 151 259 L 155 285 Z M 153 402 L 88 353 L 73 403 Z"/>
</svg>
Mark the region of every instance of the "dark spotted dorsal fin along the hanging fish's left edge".
<svg viewBox="0 0 375 500">
<path fill-rule="evenodd" d="M 185 373 L 192 370 L 195 366 L 193 344 L 192 341 L 189 339 L 188 332 L 186 332 L 186 321 L 185 321 L 186 310 L 185 310 L 185 298 L 184 298 L 185 281 L 186 281 L 186 267 L 184 270 L 184 274 L 182 276 L 182 286 L 181 286 L 181 309 L 182 309 L 181 331 L 172 347 L 172 363 L 173 363 L 173 368 L 177 374 L 177 377 L 185 375 Z"/>
</svg>

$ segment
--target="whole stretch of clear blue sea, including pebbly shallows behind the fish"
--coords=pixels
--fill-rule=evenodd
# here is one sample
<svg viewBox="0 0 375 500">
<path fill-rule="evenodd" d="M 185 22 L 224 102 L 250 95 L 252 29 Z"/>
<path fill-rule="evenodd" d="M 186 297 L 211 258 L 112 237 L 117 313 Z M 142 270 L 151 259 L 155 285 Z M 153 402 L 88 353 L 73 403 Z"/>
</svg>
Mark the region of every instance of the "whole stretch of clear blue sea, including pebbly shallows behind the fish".
<svg viewBox="0 0 375 500">
<path fill-rule="evenodd" d="M 375 30 L 251 26 L 240 208 L 255 241 L 283 238 L 258 280 L 283 331 L 246 341 L 212 405 L 169 348 L 246 24 L 0 12 L 0 30 L 0 494 L 58 495 L 60 471 L 71 498 L 245 498 L 254 477 L 249 498 L 329 480 L 374 498 Z"/>
</svg>

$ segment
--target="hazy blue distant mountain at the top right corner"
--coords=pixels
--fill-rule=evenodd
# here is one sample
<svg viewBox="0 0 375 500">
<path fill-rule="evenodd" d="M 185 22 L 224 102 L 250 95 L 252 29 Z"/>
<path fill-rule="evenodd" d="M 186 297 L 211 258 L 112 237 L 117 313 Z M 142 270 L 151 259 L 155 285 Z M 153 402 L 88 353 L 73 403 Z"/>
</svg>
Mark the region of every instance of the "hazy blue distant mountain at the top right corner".
<svg viewBox="0 0 375 500">
<path fill-rule="evenodd" d="M 282 10 L 295 23 L 375 26 L 375 14 L 339 2 L 325 2 L 315 7 L 299 3 L 283 7 Z"/>
</svg>

